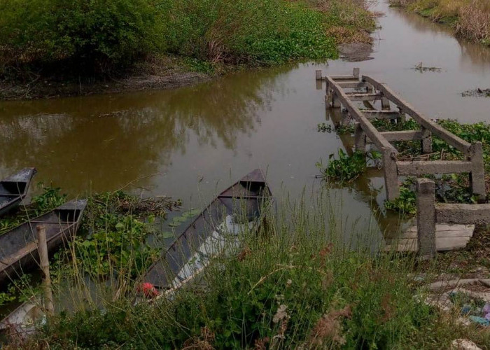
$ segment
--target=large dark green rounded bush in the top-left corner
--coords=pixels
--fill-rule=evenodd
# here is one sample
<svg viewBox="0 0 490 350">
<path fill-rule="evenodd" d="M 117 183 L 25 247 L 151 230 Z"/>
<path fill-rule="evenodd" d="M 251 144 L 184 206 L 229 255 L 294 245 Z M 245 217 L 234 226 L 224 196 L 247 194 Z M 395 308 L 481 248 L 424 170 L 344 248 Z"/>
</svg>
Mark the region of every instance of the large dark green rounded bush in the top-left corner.
<svg viewBox="0 0 490 350">
<path fill-rule="evenodd" d="M 10 54 L 3 59 L 10 63 L 71 59 L 107 69 L 163 43 L 148 0 L 6 0 L 0 13 L 1 48 Z"/>
</svg>

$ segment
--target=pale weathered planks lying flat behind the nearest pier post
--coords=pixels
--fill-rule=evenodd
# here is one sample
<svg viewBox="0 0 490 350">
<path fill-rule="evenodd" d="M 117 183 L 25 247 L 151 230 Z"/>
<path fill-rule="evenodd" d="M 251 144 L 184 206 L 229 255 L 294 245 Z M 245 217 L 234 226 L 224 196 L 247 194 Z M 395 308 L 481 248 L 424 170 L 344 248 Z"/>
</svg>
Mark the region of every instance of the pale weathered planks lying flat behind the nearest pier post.
<svg viewBox="0 0 490 350">
<path fill-rule="evenodd" d="M 454 251 L 465 248 L 475 231 L 475 225 L 436 225 L 435 248 L 437 251 Z M 400 239 L 391 239 L 398 243 L 396 251 L 418 251 L 416 225 L 405 231 Z M 384 251 L 391 251 L 393 247 L 386 244 Z"/>
</svg>

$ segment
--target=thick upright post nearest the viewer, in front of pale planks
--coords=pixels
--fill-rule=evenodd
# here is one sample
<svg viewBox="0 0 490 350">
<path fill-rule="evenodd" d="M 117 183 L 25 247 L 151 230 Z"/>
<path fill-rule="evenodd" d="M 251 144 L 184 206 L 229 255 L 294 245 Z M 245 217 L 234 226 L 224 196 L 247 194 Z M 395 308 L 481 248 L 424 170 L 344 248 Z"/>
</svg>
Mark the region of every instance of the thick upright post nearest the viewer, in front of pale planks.
<svg viewBox="0 0 490 350">
<path fill-rule="evenodd" d="M 434 181 L 416 181 L 416 219 L 419 257 L 430 259 L 435 256 L 435 195 Z"/>
</svg>

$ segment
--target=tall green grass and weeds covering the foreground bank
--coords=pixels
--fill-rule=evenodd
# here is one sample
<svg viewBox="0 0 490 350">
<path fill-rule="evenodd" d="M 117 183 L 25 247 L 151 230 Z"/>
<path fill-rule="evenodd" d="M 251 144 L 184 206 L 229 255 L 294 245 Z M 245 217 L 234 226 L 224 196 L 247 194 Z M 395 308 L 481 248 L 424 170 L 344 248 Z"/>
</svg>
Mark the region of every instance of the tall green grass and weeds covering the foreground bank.
<svg viewBox="0 0 490 350">
<path fill-rule="evenodd" d="M 132 279 L 102 279 L 89 288 L 78 274 L 69 287 L 73 309 L 48 319 L 34 338 L 18 345 L 448 349 L 458 337 L 489 344 L 488 334 L 424 304 L 424 289 L 413 279 L 415 260 L 373 254 L 378 237 L 365 223 L 356 228 L 339 222 L 326 198 L 312 205 L 282 203 L 258 235 L 241 235 L 239 251 L 211 260 L 200 279 L 171 297 L 141 300 Z"/>
</svg>

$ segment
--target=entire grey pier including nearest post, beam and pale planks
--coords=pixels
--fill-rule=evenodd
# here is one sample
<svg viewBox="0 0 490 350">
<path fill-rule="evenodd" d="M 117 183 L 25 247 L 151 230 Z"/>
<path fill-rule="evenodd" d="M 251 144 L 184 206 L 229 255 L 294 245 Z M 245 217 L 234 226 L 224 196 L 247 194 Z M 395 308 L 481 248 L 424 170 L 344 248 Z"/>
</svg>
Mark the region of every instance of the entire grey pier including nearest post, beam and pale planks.
<svg viewBox="0 0 490 350">
<path fill-rule="evenodd" d="M 486 188 L 481 142 L 470 144 L 445 130 L 416 111 L 386 84 L 370 76 L 360 76 L 358 68 L 346 76 L 322 76 L 321 71 L 316 71 L 316 80 L 326 82 L 327 108 L 344 107 L 353 118 L 356 150 L 365 151 L 370 142 L 381 151 L 387 200 L 394 200 L 400 195 L 399 176 L 467 173 L 472 193 L 479 202 L 484 202 Z M 370 122 L 377 118 L 399 123 L 407 117 L 416 121 L 419 130 L 380 132 Z M 461 151 L 465 159 L 398 159 L 399 152 L 393 142 L 420 141 L 422 153 L 430 154 L 433 136 Z M 399 239 L 391 240 L 386 250 L 417 251 L 423 258 L 432 258 L 437 251 L 464 248 L 476 223 L 490 223 L 490 204 L 436 204 L 435 184 L 428 179 L 417 179 L 416 207 L 416 226 L 405 231 Z"/>
</svg>

